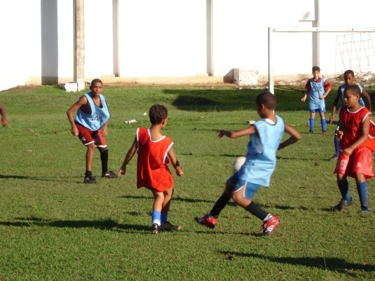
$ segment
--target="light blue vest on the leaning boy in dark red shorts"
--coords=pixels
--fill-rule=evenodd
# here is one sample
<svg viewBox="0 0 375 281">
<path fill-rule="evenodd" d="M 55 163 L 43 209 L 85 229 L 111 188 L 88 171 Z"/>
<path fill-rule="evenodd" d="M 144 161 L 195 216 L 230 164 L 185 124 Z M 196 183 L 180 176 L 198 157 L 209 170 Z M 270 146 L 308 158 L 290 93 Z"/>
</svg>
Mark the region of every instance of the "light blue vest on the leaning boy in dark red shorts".
<svg viewBox="0 0 375 281">
<path fill-rule="evenodd" d="M 81 108 L 79 108 L 77 110 L 75 121 L 90 130 L 100 130 L 100 128 L 103 127 L 104 123 L 106 123 L 110 117 L 105 97 L 103 95 L 99 95 L 102 107 L 97 107 L 93 101 L 93 98 L 91 97 L 91 92 L 87 92 L 85 97 L 87 97 L 88 104 L 90 104 L 91 114 L 86 114 Z"/>
</svg>

